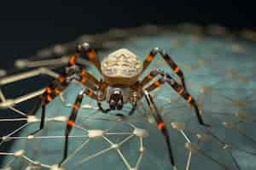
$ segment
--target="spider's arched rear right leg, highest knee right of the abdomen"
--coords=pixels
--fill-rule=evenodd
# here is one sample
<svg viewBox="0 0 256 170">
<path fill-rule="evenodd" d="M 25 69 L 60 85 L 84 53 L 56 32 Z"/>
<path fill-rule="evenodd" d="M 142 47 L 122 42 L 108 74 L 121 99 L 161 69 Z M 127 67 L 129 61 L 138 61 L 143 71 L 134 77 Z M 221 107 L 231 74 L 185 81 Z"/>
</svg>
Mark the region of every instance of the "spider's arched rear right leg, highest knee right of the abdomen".
<svg viewBox="0 0 256 170">
<path fill-rule="evenodd" d="M 165 59 L 166 63 L 172 68 L 172 70 L 177 74 L 180 78 L 183 88 L 186 89 L 185 78 L 183 76 L 183 71 L 177 66 L 177 64 L 173 61 L 172 57 L 169 54 L 166 54 L 161 48 L 153 48 L 150 53 L 147 55 L 147 58 L 143 62 L 143 71 L 148 68 L 148 65 L 154 59 L 156 54 L 160 54 L 160 56 Z"/>
</svg>

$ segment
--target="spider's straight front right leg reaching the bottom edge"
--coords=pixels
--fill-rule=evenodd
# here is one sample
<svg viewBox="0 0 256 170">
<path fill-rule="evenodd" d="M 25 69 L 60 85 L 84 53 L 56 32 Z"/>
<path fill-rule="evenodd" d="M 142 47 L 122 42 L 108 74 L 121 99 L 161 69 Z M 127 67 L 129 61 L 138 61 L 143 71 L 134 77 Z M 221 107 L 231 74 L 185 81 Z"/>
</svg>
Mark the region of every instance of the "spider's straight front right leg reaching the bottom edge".
<svg viewBox="0 0 256 170">
<path fill-rule="evenodd" d="M 163 121 L 163 118 L 160 116 L 160 112 L 158 111 L 158 108 L 154 104 L 154 100 L 153 100 L 152 96 L 148 93 L 147 90 L 144 90 L 144 96 L 147 100 L 147 103 L 148 103 L 148 106 L 149 106 L 150 110 L 152 111 L 154 119 L 157 123 L 157 127 L 159 128 L 159 130 L 161 131 L 161 133 L 164 135 L 164 137 L 166 139 L 168 156 L 169 156 L 169 160 L 172 164 L 172 167 L 173 167 L 174 170 L 177 170 L 177 166 L 175 164 L 174 156 L 173 156 L 173 153 L 172 153 L 172 146 L 171 146 L 169 133 L 168 133 L 167 128 L 166 128 L 166 124 Z"/>
</svg>

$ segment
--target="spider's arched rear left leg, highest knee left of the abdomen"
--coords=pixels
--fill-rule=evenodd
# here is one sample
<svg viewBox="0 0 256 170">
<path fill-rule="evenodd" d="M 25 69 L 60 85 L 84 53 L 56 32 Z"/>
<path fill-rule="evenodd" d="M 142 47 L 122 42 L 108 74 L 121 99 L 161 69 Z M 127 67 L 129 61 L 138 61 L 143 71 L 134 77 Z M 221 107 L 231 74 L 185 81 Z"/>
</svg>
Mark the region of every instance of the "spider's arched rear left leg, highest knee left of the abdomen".
<svg viewBox="0 0 256 170">
<path fill-rule="evenodd" d="M 77 59 L 83 54 L 86 53 L 90 62 L 96 66 L 96 69 L 100 72 L 102 72 L 101 63 L 100 60 L 96 56 L 96 52 L 94 48 L 90 47 L 90 44 L 88 42 L 82 42 L 80 43 L 76 48 L 76 53 L 71 55 L 68 65 L 73 66 L 76 65 Z"/>
</svg>

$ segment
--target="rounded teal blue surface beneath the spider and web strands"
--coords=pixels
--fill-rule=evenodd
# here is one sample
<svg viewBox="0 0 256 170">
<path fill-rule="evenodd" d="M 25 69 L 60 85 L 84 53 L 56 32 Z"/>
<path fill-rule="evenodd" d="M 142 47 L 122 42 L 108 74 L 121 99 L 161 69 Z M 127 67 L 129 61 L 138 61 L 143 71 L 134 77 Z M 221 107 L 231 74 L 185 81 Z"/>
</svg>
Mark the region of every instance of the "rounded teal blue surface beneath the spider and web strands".
<svg viewBox="0 0 256 170">
<path fill-rule="evenodd" d="M 175 45 L 175 41 L 182 42 L 181 46 Z M 236 49 L 237 45 L 240 47 Z M 202 40 L 195 41 L 191 35 L 177 33 L 160 34 L 153 37 L 136 37 L 131 40 L 119 42 L 114 48 L 105 51 L 99 51 L 102 58 L 118 48 L 128 48 L 144 59 L 151 48 L 160 47 L 166 50 L 168 54 L 177 62 L 177 65 L 183 70 L 186 78 L 187 87 L 190 94 L 195 96 L 203 111 L 205 122 L 213 126 L 212 130 L 207 131 L 201 127 L 195 117 L 193 109 L 177 94 L 172 88 L 164 85 L 160 91 L 154 92 L 154 99 L 160 108 L 161 115 L 164 117 L 169 129 L 175 161 L 178 169 L 185 169 L 189 150 L 184 148 L 187 142 L 182 133 L 172 128 L 171 122 L 185 122 L 185 133 L 193 144 L 200 147 L 199 151 L 193 151 L 191 156 L 190 168 L 192 170 L 217 170 L 217 169 L 256 169 L 256 134 L 255 122 L 242 122 L 236 113 L 246 111 L 256 120 L 256 48 L 253 42 L 242 42 L 220 37 L 205 37 Z M 161 68 L 164 71 L 172 73 L 171 69 L 163 62 L 163 59 L 157 58 L 150 65 L 150 69 Z M 191 68 L 191 70 L 189 69 Z M 150 70 L 148 69 L 148 71 Z M 96 76 L 101 77 L 94 68 L 89 70 Z M 145 76 L 148 71 L 145 71 Z M 142 78 L 143 78 L 142 76 Z M 172 73 L 173 77 L 176 77 Z M 176 77 L 177 78 L 177 77 Z M 210 87 L 212 90 L 202 93 L 201 86 Z M 76 95 L 79 93 L 79 86 L 71 85 L 64 93 L 67 103 L 73 103 Z M 168 99 L 173 99 L 168 102 Z M 235 105 L 234 101 L 241 100 L 245 105 Z M 84 104 L 96 106 L 96 102 L 91 99 L 84 99 Z M 77 124 L 85 129 L 108 130 L 109 133 L 132 133 L 132 125 L 147 129 L 149 136 L 143 139 L 145 151 L 143 159 L 138 169 L 172 169 L 167 159 L 166 144 L 161 133 L 154 123 L 148 122 L 148 107 L 145 101 L 134 116 L 128 117 L 124 122 L 118 122 L 118 117 L 104 115 L 98 111 L 82 109 L 79 111 Z M 130 105 L 125 108 L 123 114 L 126 114 Z M 47 108 L 47 117 L 69 116 L 71 109 L 61 103 L 56 98 Z M 37 114 L 39 116 L 39 113 Z M 89 118 L 84 118 L 89 116 Z M 109 121 L 112 120 L 112 121 Z M 236 128 L 224 127 L 222 122 L 237 122 Z M 20 136 L 26 136 L 33 129 L 38 127 L 38 123 L 29 125 L 20 133 Z M 46 128 L 37 136 L 62 136 L 66 124 L 63 122 L 47 122 Z M 211 136 L 207 142 L 202 142 L 196 138 L 197 133 L 205 133 Z M 84 135 L 84 138 L 70 139 L 69 154 L 79 148 L 86 139 L 86 131 L 75 128 L 72 135 Z M 106 135 L 113 143 L 119 143 L 129 134 L 125 135 Z M 12 150 L 25 150 L 26 156 L 34 161 L 39 161 L 46 165 L 53 165 L 61 160 L 64 140 L 60 139 L 19 139 L 15 141 Z M 224 144 L 232 145 L 231 150 L 224 150 Z M 86 156 L 93 155 L 99 150 L 109 147 L 109 143 L 102 138 L 90 139 L 76 156 L 64 165 L 67 169 L 128 169 L 125 162 L 122 161 L 117 150 L 96 156 L 79 164 Z M 120 147 L 131 167 L 135 167 L 139 156 L 139 139 L 132 137 Z M 5 157 L 5 163 L 11 159 L 11 156 Z M 3 163 L 3 165 L 5 165 Z M 28 163 L 16 159 L 11 165 L 14 169 L 26 169 Z M 42 169 L 44 169 L 42 167 Z"/>
</svg>

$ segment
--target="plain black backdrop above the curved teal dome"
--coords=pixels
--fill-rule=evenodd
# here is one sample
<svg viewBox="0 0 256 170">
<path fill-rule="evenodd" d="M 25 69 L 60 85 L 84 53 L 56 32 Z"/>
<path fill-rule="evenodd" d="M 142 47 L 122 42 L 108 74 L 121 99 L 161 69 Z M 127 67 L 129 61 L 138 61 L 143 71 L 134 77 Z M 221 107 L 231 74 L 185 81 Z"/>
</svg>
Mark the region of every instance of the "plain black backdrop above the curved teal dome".
<svg viewBox="0 0 256 170">
<path fill-rule="evenodd" d="M 255 9 L 246 1 L 9 1 L 0 3 L 0 49 L 9 67 L 40 48 L 112 27 L 192 22 L 255 29 Z"/>
</svg>

